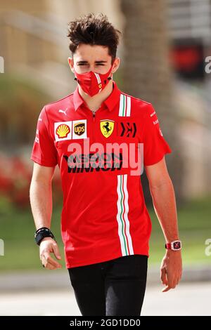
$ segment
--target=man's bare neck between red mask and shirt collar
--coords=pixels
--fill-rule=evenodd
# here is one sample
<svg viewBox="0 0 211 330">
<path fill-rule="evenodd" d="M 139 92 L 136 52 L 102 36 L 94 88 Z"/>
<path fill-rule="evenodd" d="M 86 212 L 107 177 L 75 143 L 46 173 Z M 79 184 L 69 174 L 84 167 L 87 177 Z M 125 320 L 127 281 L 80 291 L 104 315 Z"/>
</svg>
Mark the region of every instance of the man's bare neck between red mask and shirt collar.
<svg viewBox="0 0 211 330">
<path fill-rule="evenodd" d="M 113 80 L 110 79 L 107 86 L 105 88 L 103 88 L 103 91 L 101 91 L 101 93 L 98 93 L 92 97 L 89 96 L 87 93 L 84 93 L 84 91 L 82 90 L 82 88 L 79 84 L 78 84 L 78 87 L 79 87 L 78 88 L 79 94 L 82 96 L 84 101 L 87 103 L 87 106 L 89 107 L 89 109 L 91 111 L 95 112 L 96 110 L 98 110 L 99 107 L 101 107 L 101 104 L 103 103 L 103 101 L 106 100 L 106 98 L 108 98 L 108 96 L 112 93 Z"/>
</svg>

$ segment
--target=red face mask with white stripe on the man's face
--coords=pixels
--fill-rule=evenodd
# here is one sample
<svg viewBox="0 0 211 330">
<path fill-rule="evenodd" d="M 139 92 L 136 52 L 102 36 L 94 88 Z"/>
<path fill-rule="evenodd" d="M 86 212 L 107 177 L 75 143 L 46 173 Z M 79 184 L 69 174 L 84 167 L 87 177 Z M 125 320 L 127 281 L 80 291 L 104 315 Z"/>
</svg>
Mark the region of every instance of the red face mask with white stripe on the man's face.
<svg viewBox="0 0 211 330">
<path fill-rule="evenodd" d="M 113 68 L 113 65 L 110 67 L 109 71 L 105 74 L 95 73 L 93 71 L 89 71 L 83 74 L 75 73 L 75 80 L 81 86 L 82 90 L 89 94 L 90 96 L 96 95 L 103 91 L 103 88 L 106 87 L 111 77 L 110 72 Z"/>
</svg>

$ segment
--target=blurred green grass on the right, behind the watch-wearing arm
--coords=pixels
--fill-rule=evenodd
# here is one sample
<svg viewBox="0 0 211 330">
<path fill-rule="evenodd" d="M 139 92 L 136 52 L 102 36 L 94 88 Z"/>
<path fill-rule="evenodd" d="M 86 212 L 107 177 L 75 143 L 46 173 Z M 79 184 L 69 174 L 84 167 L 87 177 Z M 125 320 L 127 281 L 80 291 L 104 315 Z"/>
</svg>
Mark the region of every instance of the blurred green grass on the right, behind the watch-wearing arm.
<svg viewBox="0 0 211 330">
<path fill-rule="evenodd" d="M 152 210 L 151 210 L 152 211 Z M 210 197 L 192 199 L 179 207 L 178 224 L 179 238 L 182 241 L 182 257 L 184 265 L 193 263 L 210 264 L 211 256 L 205 255 L 205 240 L 211 238 Z M 150 263 L 160 263 L 164 256 L 165 240 L 162 235 L 160 224 L 154 212 L 151 212 L 153 231 L 151 235 Z"/>
</svg>

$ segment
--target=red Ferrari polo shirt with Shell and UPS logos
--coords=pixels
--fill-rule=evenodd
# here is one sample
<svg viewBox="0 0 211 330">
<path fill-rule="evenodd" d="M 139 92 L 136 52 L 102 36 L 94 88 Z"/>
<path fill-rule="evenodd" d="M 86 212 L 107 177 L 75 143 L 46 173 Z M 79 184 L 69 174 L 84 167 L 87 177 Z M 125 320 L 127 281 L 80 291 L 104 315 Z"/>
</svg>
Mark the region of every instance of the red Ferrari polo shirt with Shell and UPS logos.
<svg viewBox="0 0 211 330">
<path fill-rule="evenodd" d="M 153 165 L 171 151 L 151 103 L 123 93 L 115 81 L 96 114 L 78 87 L 43 107 L 31 159 L 60 169 L 66 268 L 149 256 L 151 218 L 134 169 L 140 159 Z"/>
</svg>

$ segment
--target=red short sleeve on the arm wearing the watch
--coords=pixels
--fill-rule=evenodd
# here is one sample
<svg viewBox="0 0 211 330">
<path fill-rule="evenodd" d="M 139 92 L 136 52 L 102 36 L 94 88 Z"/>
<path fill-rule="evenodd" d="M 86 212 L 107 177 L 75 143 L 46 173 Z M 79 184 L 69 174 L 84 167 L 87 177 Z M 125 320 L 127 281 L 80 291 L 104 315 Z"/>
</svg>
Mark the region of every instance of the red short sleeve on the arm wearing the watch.
<svg viewBox="0 0 211 330">
<path fill-rule="evenodd" d="M 155 109 L 149 104 L 143 128 L 143 165 L 156 164 L 165 154 L 171 152 L 170 146 L 162 136 Z"/>
</svg>

